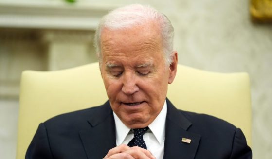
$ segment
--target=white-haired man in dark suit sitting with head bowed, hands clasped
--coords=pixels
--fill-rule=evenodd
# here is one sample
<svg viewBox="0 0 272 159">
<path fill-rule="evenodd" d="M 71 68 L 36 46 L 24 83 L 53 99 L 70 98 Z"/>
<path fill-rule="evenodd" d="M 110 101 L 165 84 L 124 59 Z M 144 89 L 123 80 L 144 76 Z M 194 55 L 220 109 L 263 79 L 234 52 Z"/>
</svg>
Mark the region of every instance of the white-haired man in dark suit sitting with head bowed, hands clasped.
<svg viewBox="0 0 272 159">
<path fill-rule="evenodd" d="M 40 124 L 26 159 L 251 159 L 240 129 L 166 98 L 173 35 L 168 18 L 142 5 L 102 18 L 95 41 L 109 101 Z"/>
</svg>

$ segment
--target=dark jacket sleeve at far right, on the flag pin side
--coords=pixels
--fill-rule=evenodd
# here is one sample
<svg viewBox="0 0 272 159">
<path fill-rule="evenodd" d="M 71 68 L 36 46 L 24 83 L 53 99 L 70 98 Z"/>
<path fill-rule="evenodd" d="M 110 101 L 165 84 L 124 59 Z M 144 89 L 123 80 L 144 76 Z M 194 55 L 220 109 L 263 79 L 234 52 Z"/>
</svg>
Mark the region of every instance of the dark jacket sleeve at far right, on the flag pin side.
<svg viewBox="0 0 272 159">
<path fill-rule="evenodd" d="M 247 145 L 246 138 L 239 128 L 236 129 L 234 135 L 230 159 L 252 159 L 251 148 Z"/>
</svg>

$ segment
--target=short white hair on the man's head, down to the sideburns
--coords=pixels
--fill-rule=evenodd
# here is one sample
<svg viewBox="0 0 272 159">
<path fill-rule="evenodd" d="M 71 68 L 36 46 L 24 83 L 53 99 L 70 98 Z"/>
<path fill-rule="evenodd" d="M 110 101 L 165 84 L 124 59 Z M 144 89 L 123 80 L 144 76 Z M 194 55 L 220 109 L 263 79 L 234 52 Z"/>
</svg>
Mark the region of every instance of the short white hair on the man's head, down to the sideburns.
<svg viewBox="0 0 272 159">
<path fill-rule="evenodd" d="M 125 29 L 135 25 L 145 24 L 152 20 L 159 24 L 162 34 L 164 59 L 166 64 L 170 65 L 172 63 L 174 37 L 174 28 L 171 21 L 156 9 L 140 4 L 132 4 L 114 9 L 101 19 L 94 37 L 94 46 L 96 47 L 99 62 L 102 62 L 100 40 L 103 28 L 111 30 Z"/>
</svg>

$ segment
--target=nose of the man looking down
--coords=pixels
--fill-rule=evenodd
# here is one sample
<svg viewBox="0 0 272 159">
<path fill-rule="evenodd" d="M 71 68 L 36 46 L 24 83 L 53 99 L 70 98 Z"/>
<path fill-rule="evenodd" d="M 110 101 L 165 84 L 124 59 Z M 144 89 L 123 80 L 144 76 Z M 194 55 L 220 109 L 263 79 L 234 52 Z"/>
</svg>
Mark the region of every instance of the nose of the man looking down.
<svg viewBox="0 0 272 159">
<path fill-rule="evenodd" d="M 137 86 L 135 75 L 133 73 L 125 73 L 123 76 L 123 86 L 122 91 L 127 94 L 131 95 L 139 91 L 139 87 Z"/>
</svg>

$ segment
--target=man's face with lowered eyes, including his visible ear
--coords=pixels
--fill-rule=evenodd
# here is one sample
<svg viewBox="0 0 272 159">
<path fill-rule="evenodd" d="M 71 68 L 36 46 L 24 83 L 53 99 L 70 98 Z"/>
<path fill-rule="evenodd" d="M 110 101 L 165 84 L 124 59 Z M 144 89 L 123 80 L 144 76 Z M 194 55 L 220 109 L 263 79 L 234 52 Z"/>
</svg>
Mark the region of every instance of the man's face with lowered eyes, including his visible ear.
<svg viewBox="0 0 272 159">
<path fill-rule="evenodd" d="M 162 38 L 154 24 L 101 33 L 101 74 L 112 110 L 130 128 L 146 127 L 163 108 L 176 74 L 166 66 Z M 174 65 L 174 66 L 173 66 Z"/>
</svg>

